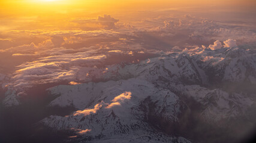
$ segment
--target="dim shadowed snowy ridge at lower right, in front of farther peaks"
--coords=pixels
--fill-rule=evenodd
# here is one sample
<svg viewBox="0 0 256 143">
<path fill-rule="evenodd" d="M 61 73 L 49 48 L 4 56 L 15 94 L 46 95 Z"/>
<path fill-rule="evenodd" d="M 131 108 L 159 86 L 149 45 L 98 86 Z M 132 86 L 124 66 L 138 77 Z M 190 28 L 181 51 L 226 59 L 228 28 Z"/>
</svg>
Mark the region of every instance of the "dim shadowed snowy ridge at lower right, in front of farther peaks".
<svg viewBox="0 0 256 143">
<path fill-rule="evenodd" d="M 247 94 L 228 93 L 221 89 L 211 90 L 198 85 L 173 85 L 173 90 L 182 91 L 186 97 L 200 102 L 203 106 L 201 117 L 209 123 L 243 116 L 254 103 Z"/>
</svg>

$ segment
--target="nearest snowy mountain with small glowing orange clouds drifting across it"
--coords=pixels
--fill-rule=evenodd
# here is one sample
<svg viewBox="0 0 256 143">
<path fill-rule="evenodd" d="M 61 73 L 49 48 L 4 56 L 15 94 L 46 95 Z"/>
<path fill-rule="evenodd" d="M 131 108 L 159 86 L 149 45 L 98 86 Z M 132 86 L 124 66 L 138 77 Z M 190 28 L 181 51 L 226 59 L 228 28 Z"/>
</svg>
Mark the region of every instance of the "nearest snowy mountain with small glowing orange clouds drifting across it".
<svg viewBox="0 0 256 143">
<path fill-rule="evenodd" d="M 130 83 L 136 84 L 131 85 Z M 148 123 L 144 122 L 147 114 L 155 114 L 156 116 L 169 120 L 169 122 L 175 122 L 177 121 L 177 116 L 183 110 L 179 98 L 166 89 L 159 90 L 154 88 L 152 84 L 138 79 L 124 80 L 122 83 L 119 81 L 115 82 L 115 84 L 111 85 L 111 82 L 106 82 L 95 83 L 95 85 L 91 85 L 90 83 L 77 85 L 80 88 L 83 87 L 83 89 L 92 89 L 89 93 L 92 93 L 91 96 L 94 98 L 94 105 L 90 105 L 90 102 L 86 104 L 88 98 L 80 98 L 81 103 L 77 104 L 76 107 L 85 105 L 89 108 L 78 110 L 70 116 L 50 116 L 41 122 L 55 129 L 78 130 L 79 134 L 84 131 L 85 136 L 91 136 L 92 138 L 106 138 L 108 136 L 116 136 L 118 138 L 118 136 L 124 133 L 131 134 L 132 132 L 144 132 L 143 130 L 155 130 Z M 101 95 L 99 97 L 94 97 L 98 89 L 92 88 L 92 86 L 105 88 L 100 91 Z M 63 86 L 62 88 L 65 87 Z M 120 95 L 115 94 L 124 91 L 124 89 L 131 92 L 124 92 Z M 79 92 L 81 93 L 83 91 Z M 79 92 L 70 92 L 73 95 L 66 95 L 66 97 L 79 95 Z M 61 100 L 65 100 L 65 98 L 59 97 L 51 105 Z M 146 105 L 145 101 L 155 103 L 155 105 Z M 143 107 L 141 107 L 141 104 L 143 104 Z M 150 108 L 150 111 L 147 110 L 148 108 Z M 157 141 L 155 136 L 151 136 L 151 138 Z M 166 141 L 170 141 L 170 139 Z"/>
</svg>

